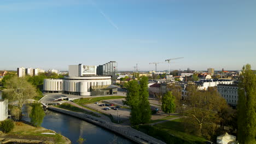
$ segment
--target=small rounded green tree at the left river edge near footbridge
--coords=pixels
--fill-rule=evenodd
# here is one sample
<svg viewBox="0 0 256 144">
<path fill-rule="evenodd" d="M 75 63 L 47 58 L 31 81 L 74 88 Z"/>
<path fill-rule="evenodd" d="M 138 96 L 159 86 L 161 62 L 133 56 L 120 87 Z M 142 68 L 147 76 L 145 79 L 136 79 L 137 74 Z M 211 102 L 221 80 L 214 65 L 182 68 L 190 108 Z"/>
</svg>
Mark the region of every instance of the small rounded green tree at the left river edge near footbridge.
<svg viewBox="0 0 256 144">
<path fill-rule="evenodd" d="M 32 110 L 30 113 L 30 120 L 32 125 L 34 125 L 35 127 L 39 127 L 43 122 L 44 116 L 45 116 L 45 113 L 40 103 L 33 104 Z"/>
</svg>

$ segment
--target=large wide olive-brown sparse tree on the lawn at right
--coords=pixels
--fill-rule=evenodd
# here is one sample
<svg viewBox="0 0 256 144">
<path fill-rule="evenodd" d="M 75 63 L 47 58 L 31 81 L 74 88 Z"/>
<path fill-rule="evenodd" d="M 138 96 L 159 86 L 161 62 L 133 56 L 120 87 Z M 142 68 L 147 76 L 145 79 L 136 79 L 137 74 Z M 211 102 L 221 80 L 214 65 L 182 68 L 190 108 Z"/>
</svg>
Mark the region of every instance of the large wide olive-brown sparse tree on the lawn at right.
<svg viewBox="0 0 256 144">
<path fill-rule="evenodd" d="M 216 88 L 196 91 L 196 86 L 188 86 L 188 110 L 185 122 L 190 130 L 206 139 L 211 139 L 217 129 L 218 113 L 226 105 Z"/>
</svg>

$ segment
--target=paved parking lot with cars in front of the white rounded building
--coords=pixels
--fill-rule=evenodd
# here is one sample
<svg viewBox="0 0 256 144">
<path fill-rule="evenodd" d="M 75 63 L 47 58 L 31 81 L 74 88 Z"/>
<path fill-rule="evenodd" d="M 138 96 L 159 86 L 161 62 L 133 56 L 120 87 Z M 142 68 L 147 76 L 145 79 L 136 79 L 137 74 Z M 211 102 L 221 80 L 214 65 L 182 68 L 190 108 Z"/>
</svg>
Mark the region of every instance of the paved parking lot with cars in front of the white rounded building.
<svg viewBox="0 0 256 144">
<path fill-rule="evenodd" d="M 108 115 L 112 115 L 113 118 L 117 121 L 125 122 L 129 120 L 130 117 L 130 112 L 131 110 L 129 109 L 124 109 L 124 108 L 118 108 L 118 110 L 111 109 L 111 107 L 118 106 L 117 104 L 114 104 L 114 106 L 99 106 L 101 104 L 106 104 L 106 103 L 98 103 L 98 104 L 87 104 L 86 106 L 90 107 L 91 109 L 107 113 Z M 119 105 L 122 106 L 122 105 Z M 110 110 L 103 110 L 104 108 L 110 107 Z"/>
</svg>

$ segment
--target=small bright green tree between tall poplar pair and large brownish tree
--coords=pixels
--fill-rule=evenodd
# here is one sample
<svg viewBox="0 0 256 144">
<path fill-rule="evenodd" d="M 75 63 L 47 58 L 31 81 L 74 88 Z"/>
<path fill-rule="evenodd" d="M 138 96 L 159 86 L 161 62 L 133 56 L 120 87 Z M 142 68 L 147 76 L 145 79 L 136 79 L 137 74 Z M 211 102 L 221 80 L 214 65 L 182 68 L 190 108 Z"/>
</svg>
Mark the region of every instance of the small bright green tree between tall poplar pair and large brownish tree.
<svg viewBox="0 0 256 144">
<path fill-rule="evenodd" d="M 175 97 L 172 95 L 172 92 L 167 92 L 161 99 L 162 101 L 162 111 L 168 113 L 170 116 L 171 112 L 174 112 L 176 109 Z"/>
</svg>

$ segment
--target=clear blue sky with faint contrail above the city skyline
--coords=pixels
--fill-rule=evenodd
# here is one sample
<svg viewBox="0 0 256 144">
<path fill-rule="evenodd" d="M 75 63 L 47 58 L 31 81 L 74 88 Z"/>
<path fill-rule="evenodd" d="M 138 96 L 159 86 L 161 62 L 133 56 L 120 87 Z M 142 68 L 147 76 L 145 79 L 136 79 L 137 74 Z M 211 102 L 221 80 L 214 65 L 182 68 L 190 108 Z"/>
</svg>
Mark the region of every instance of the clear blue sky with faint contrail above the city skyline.
<svg viewBox="0 0 256 144">
<path fill-rule="evenodd" d="M 256 69 L 255 0 L 1 0 L 0 69 Z M 168 69 L 160 64 L 159 70 Z"/>
</svg>

